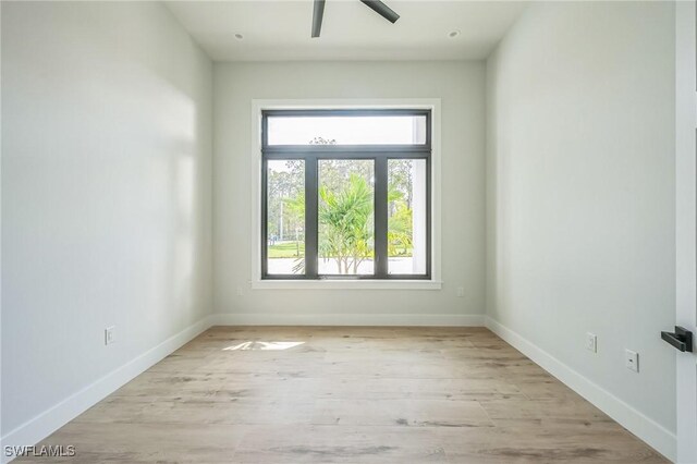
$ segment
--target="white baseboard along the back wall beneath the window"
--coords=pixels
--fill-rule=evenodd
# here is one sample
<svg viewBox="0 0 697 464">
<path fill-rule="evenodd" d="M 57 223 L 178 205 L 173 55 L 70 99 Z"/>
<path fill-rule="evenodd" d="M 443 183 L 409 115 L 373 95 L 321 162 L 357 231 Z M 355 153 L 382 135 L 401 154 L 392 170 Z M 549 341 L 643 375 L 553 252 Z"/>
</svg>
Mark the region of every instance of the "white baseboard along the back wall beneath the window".
<svg viewBox="0 0 697 464">
<path fill-rule="evenodd" d="M 212 326 L 421 326 L 484 327 L 481 314 L 259 314 L 218 313 Z"/>
</svg>

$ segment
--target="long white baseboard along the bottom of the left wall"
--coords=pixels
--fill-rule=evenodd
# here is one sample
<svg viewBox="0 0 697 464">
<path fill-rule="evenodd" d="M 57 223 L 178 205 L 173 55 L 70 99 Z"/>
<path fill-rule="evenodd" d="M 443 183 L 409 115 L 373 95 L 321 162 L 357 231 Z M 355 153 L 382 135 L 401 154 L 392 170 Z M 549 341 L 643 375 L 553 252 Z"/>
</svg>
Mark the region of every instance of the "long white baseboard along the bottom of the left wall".
<svg viewBox="0 0 697 464">
<path fill-rule="evenodd" d="M 27 420 L 14 430 L 11 430 L 0 439 L 1 462 L 8 463 L 13 459 L 4 455 L 4 447 L 22 447 L 38 443 L 209 327 L 209 317 L 203 318 L 193 326 L 170 337 L 159 345 L 94 381 L 78 392 L 73 393 L 51 408 Z"/>
</svg>

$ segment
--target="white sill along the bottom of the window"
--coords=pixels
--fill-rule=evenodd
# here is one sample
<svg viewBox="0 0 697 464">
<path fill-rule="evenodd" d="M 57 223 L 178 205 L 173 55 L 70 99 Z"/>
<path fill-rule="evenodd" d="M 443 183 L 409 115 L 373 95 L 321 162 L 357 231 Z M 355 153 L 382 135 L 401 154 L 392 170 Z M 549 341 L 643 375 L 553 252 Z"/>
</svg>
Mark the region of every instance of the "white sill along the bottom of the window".
<svg viewBox="0 0 697 464">
<path fill-rule="evenodd" d="M 436 280 L 256 280 L 253 290 L 441 290 Z"/>
</svg>

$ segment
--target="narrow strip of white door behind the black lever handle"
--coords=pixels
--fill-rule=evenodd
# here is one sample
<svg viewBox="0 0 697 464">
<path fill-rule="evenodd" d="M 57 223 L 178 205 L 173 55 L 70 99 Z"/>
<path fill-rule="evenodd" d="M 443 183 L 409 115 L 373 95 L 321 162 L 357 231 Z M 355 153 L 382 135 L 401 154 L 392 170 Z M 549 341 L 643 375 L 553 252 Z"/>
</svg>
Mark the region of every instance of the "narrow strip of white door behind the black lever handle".
<svg viewBox="0 0 697 464">
<path fill-rule="evenodd" d="M 697 337 L 697 75 L 694 0 L 675 2 L 675 323 Z M 697 463 L 697 353 L 676 355 L 677 462 Z"/>
</svg>

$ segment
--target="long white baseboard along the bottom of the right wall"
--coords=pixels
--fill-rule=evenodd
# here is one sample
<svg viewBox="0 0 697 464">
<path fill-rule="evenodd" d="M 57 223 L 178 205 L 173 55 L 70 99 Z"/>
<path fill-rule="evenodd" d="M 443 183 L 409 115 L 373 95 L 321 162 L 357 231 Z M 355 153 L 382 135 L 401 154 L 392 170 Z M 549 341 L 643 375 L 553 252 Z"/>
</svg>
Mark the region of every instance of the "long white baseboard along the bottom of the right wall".
<svg viewBox="0 0 697 464">
<path fill-rule="evenodd" d="M 529 357 L 549 374 L 557 377 L 566 384 L 566 387 L 588 400 L 659 453 L 673 462 L 676 460 L 677 441 L 675 435 L 670 430 L 582 376 L 536 344 L 501 325 L 496 319 L 486 317 L 486 326 L 506 343 Z"/>
</svg>

